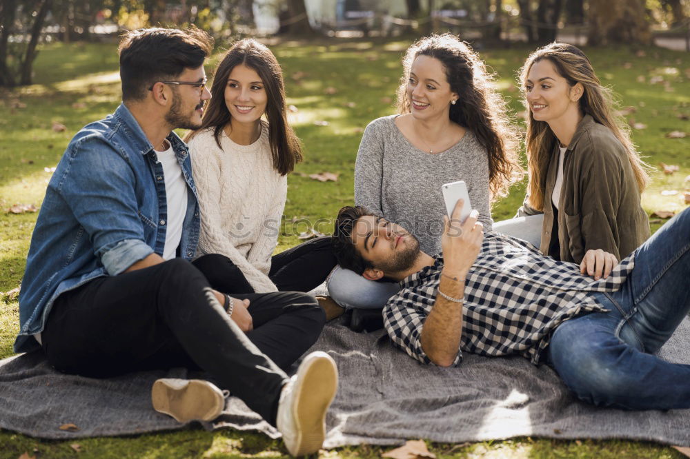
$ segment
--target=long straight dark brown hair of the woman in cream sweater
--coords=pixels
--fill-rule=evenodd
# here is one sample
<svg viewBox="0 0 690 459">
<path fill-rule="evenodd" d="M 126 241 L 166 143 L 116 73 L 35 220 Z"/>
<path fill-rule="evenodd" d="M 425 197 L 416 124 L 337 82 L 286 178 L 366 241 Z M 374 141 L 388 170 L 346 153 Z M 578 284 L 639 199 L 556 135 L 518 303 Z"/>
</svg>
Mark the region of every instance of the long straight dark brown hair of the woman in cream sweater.
<svg viewBox="0 0 690 459">
<path fill-rule="evenodd" d="M 273 167 L 281 175 L 289 174 L 295 168 L 295 164 L 302 161 L 302 147 L 297 134 L 288 125 L 283 72 L 273 52 L 254 39 L 237 41 L 226 52 L 215 70 L 213 85 L 211 85 L 211 99 L 201 118 L 201 128 L 188 133 L 184 140 L 189 141 L 202 130 L 213 128 L 215 141 L 218 147 L 221 147 L 221 132 L 230 123 L 231 118 L 225 103 L 225 87 L 233 68 L 240 64 L 257 72 L 264 83 L 268 98 L 268 103 L 266 103 L 268 143 L 270 143 Z"/>
</svg>

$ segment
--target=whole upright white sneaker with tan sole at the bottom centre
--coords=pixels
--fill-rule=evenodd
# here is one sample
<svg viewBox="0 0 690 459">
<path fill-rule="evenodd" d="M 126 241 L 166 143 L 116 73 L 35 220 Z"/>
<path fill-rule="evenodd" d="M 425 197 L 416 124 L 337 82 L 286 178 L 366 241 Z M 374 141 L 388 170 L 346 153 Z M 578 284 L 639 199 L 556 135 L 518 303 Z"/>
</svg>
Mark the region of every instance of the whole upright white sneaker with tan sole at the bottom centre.
<svg viewBox="0 0 690 459">
<path fill-rule="evenodd" d="M 338 389 L 333 358 L 322 351 L 302 360 L 284 385 L 278 402 L 277 427 L 292 456 L 319 451 L 326 437 L 326 411 Z"/>
</svg>

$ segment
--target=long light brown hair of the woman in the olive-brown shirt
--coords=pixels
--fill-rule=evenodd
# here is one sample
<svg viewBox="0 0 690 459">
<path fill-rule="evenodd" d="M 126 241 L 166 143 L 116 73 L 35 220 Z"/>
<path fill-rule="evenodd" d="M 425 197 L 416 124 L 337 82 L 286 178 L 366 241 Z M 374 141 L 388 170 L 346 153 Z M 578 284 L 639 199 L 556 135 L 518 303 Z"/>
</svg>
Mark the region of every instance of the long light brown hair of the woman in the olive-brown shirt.
<svg viewBox="0 0 690 459">
<path fill-rule="evenodd" d="M 520 70 L 520 83 L 523 89 L 532 65 L 542 59 L 549 59 L 556 72 L 568 81 L 571 88 L 577 83 L 582 85 L 584 92 L 580 97 L 580 111 L 582 114 L 591 115 L 594 121 L 609 128 L 616 139 L 622 143 L 641 193 L 649 183 L 649 176 L 645 170 L 647 166 L 640 159 L 640 154 L 630 140 L 628 125 L 622 116 L 613 114 L 612 107 L 615 101 L 611 90 L 602 86 L 584 52 L 566 43 L 551 43 L 539 48 L 529 55 Z M 525 102 L 525 105 L 529 112 L 526 135 L 529 205 L 536 210 L 543 210 L 546 172 L 558 139 L 546 121 L 534 119 L 529 103 Z"/>
</svg>

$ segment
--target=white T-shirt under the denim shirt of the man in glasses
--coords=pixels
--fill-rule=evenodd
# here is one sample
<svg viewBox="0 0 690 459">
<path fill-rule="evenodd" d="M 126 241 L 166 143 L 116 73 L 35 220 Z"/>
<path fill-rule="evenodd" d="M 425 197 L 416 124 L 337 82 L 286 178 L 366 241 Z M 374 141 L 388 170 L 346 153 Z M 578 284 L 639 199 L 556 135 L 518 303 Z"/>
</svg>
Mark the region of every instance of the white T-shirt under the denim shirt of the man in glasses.
<svg viewBox="0 0 690 459">
<path fill-rule="evenodd" d="M 179 240 L 182 237 L 182 224 L 187 213 L 187 183 L 182 175 L 182 167 L 177 162 L 172 145 L 168 150 L 156 152 L 158 162 L 163 166 L 163 179 L 166 183 L 166 201 L 168 201 L 168 221 L 166 221 L 166 245 L 163 249 L 164 260 L 175 258 Z"/>
</svg>

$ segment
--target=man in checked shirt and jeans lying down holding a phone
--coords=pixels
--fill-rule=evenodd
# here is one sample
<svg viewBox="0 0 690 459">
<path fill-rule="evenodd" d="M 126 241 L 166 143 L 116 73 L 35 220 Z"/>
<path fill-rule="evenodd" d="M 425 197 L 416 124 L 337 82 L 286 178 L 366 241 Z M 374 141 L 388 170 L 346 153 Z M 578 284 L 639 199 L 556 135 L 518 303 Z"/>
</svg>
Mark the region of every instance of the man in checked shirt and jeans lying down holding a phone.
<svg viewBox="0 0 690 459">
<path fill-rule="evenodd" d="M 690 310 L 690 210 L 620 263 L 590 250 L 578 266 L 519 239 L 484 234 L 476 211 L 461 224 L 461 208 L 462 200 L 446 218 L 435 256 L 363 207 L 343 207 L 337 216 L 339 265 L 400 282 L 383 309 L 393 345 L 444 367 L 460 365 L 463 351 L 520 354 L 551 365 L 595 405 L 690 408 L 690 365 L 653 356 Z"/>
</svg>

